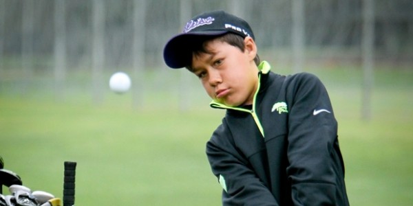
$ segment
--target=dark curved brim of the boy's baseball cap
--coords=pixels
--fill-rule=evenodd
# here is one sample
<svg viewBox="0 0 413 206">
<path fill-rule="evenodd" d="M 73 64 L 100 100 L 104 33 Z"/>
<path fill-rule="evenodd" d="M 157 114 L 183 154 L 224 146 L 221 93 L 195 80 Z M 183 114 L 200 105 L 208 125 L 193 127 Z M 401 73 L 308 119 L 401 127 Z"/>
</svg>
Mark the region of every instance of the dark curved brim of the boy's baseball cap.
<svg viewBox="0 0 413 206">
<path fill-rule="evenodd" d="M 178 34 L 171 38 L 164 48 L 164 60 L 168 67 L 180 69 L 187 67 L 192 60 L 191 46 L 202 36 L 218 36 L 228 31 L 202 31 Z"/>
</svg>

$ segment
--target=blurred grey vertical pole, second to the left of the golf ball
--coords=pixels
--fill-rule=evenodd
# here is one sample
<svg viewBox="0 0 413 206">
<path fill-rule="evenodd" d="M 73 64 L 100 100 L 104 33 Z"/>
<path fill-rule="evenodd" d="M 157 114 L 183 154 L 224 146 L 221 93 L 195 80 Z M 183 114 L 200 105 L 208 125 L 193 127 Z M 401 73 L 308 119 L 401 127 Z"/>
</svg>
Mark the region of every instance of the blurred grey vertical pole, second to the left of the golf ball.
<svg viewBox="0 0 413 206">
<path fill-rule="evenodd" d="M 63 100 L 66 75 L 65 1 L 54 1 L 54 85 L 56 100 Z"/>
</svg>

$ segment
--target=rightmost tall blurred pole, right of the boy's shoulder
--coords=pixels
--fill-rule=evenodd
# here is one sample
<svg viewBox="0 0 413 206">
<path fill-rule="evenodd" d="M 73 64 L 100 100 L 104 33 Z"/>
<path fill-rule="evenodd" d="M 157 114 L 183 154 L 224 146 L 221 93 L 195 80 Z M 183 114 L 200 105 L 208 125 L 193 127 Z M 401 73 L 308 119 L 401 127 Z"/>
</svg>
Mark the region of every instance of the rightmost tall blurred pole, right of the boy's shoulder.
<svg viewBox="0 0 413 206">
<path fill-rule="evenodd" d="M 374 0 L 363 0 L 363 34 L 361 40 L 363 58 L 363 98 L 361 106 L 362 119 L 371 117 L 371 95 L 374 84 Z"/>
</svg>

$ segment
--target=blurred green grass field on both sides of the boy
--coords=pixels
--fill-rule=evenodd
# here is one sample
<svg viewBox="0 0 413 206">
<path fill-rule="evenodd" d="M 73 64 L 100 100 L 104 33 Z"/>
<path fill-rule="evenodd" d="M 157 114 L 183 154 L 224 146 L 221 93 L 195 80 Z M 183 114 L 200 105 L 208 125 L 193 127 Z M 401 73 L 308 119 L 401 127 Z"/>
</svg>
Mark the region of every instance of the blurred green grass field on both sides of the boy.
<svg viewBox="0 0 413 206">
<path fill-rule="evenodd" d="M 375 73 L 369 121 L 361 119 L 359 69 L 308 71 L 325 82 L 335 108 L 350 203 L 411 205 L 413 71 Z M 16 95 L 5 92 L 12 83 L 2 85 L 0 155 L 32 190 L 61 197 L 63 162 L 77 161 L 76 205 L 220 205 L 204 146 L 223 111 L 208 108 L 200 84 L 189 98 L 200 107 L 186 111 L 162 84 L 145 91 L 139 108 L 131 93 L 107 91 L 92 104 L 87 91 L 70 90 L 56 102 L 52 89 Z"/>
</svg>

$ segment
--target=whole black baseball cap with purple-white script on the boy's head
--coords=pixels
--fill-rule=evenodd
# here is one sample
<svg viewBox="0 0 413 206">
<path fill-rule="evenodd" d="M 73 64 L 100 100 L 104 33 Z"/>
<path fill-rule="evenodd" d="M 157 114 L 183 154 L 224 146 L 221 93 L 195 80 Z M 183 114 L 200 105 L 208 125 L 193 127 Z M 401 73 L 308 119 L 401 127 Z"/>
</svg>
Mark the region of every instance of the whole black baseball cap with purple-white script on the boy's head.
<svg viewBox="0 0 413 206">
<path fill-rule="evenodd" d="M 250 25 L 237 16 L 224 11 L 199 14 L 188 21 L 182 33 L 173 36 L 165 45 L 165 63 L 172 69 L 186 67 L 192 59 L 189 47 L 193 41 L 206 36 L 220 36 L 230 32 L 238 34 L 243 38 L 251 36 L 254 39 Z"/>
</svg>

